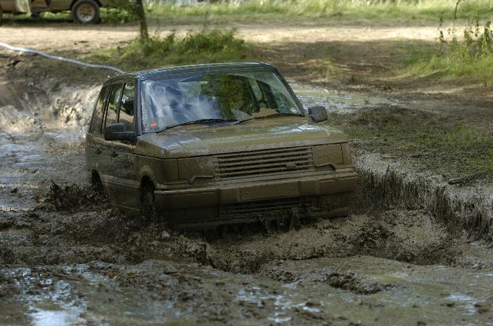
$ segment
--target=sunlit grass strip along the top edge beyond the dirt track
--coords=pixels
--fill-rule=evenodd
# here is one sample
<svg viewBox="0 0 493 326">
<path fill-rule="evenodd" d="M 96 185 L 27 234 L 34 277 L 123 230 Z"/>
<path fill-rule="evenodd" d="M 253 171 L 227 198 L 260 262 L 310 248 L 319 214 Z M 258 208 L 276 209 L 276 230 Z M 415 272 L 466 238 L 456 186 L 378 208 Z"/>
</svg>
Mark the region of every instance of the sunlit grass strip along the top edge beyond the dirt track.
<svg viewBox="0 0 493 326">
<path fill-rule="evenodd" d="M 230 0 L 196 6 L 149 3 L 150 16 L 176 21 L 181 18 L 204 20 L 259 20 L 267 18 L 342 18 L 366 20 L 452 20 L 456 0 Z M 466 0 L 459 5 L 458 19 L 489 19 L 493 2 Z"/>
</svg>

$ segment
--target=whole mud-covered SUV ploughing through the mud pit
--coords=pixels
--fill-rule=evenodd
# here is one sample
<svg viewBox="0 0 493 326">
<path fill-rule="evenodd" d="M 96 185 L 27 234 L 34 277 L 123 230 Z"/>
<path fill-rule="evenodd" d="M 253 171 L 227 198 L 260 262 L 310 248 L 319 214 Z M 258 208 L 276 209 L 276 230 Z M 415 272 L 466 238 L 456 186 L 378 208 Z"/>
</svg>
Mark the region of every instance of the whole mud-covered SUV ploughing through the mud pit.
<svg viewBox="0 0 493 326">
<path fill-rule="evenodd" d="M 346 136 L 264 63 L 122 74 L 101 89 L 87 167 L 113 205 L 184 228 L 347 213 Z"/>
</svg>

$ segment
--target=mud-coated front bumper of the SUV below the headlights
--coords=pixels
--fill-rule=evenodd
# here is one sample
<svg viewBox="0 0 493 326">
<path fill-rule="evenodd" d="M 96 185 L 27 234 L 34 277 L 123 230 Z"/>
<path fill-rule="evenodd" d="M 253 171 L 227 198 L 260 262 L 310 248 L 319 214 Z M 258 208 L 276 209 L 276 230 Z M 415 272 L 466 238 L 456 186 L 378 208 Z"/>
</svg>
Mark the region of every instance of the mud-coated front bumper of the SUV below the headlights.
<svg viewBox="0 0 493 326">
<path fill-rule="evenodd" d="M 293 202 L 293 199 L 303 199 L 305 207 L 310 207 L 300 211 L 302 217 L 329 216 L 338 211 L 347 211 L 347 201 L 335 198 L 338 194 L 352 193 L 356 184 L 357 174 L 354 171 L 347 171 L 322 176 L 236 183 L 207 188 L 158 189 L 155 190 L 155 202 L 158 211 L 178 224 L 206 222 L 217 225 L 254 221 L 258 219 L 259 214 L 267 214 L 278 207 L 288 209 L 286 201 Z M 320 197 L 330 198 L 329 200 L 335 204 L 321 207 L 321 200 L 314 200 Z M 337 203 L 339 201 L 341 204 Z M 227 214 L 227 211 L 231 211 L 227 209 L 228 207 L 243 207 L 262 202 L 269 202 L 271 206 L 264 204 L 260 206 L 264 207 L 261 210 L 243 209 L 241 214 L 233 210 L 234 214 Z"/>
</svg>

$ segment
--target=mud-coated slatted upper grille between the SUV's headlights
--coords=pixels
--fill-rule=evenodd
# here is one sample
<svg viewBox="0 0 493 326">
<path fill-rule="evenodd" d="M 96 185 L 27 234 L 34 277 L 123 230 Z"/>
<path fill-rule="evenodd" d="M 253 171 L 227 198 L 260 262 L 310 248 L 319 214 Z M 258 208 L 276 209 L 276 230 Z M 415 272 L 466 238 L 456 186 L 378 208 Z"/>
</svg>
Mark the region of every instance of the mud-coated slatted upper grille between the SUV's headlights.
<svg viewBox="0 0 493 326">
<path fill-rule="evenodd" d="M 216 155 L 217 178 L 248 178 L 314 169 L 312 148 L 272 148 Z"/>
</svg>

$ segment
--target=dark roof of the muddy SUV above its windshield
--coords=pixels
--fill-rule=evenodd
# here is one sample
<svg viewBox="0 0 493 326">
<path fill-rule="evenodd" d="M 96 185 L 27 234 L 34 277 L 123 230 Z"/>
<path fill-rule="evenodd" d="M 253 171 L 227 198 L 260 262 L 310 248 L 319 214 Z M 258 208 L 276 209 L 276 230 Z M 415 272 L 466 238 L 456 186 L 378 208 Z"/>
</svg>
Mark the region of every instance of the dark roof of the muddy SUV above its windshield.
<svg viewBox="0 0 493 326">
<path fill-rule="evenodd" d="M 267 63 L 210 63 L 207 65 L 183 65 L 179 67 L 168 67 L 151 70 L 141 70 L 138 72 L 125 72 L 115 77 L 111 77 L 105 83 L 119 81 L 122 79 L 148 79 L 162 77 L 172 74 L 184 74 L 188 72 L 217 72 L 229 70 L 248 70 L 248 69 L 274 69 Z"/>
</svg>

